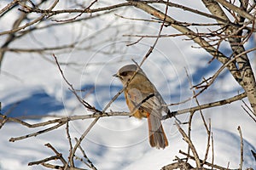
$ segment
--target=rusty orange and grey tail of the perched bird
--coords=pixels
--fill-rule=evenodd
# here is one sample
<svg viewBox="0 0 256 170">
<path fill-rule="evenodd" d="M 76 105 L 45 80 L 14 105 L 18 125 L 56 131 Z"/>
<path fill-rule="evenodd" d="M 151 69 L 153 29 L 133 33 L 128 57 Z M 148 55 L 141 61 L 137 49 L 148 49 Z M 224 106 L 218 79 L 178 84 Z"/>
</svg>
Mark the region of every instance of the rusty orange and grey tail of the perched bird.
<svg viewBox="0 0 256 170">
<path fill-rule="evenodd" d="M 165 149 L 165 147 L 168 145 L 168 140 L 160 122 L 160 118 L 149 113 L 147 118 L 150 145 L 152 147 L 156 147 L 157 149 Z"/>
</svg>

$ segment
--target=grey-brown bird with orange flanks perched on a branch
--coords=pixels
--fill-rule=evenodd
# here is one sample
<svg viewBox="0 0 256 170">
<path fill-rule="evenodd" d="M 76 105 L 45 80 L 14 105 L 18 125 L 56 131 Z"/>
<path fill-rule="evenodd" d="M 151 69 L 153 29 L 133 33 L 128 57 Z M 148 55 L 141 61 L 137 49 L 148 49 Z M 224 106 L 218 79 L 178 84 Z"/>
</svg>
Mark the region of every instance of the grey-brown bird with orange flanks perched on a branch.
<svg viewBox="0 0 256 170">
<path fill-rule="evenodd" d="M 125 100 L 131 111 L 131 116 L 148 119 L 148 136 L 151 147 L 165 149 L 168 146 L 168 140 L 160 121 L 163 111 L 168 115 L 171 114 L 171 111 L 154 84 L 149 81 L 143 70 L 134 64 L 121 67 L 113 77 L 119 77 L 123 84 Z"/>
</svg>

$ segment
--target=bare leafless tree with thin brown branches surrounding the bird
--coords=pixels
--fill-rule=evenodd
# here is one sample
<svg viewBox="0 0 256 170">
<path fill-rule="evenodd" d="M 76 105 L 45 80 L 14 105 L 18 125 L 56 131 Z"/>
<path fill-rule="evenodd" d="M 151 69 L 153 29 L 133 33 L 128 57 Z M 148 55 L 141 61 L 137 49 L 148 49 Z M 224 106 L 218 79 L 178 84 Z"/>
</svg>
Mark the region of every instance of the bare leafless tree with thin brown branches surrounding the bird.
<svg viewBox="0 0 256 170">
<path fill-rule="evenodd" d="M 55 55 L 58 54 L 66 54 L 71 49 L 75 49 L 75 52 L 85 52 L 95 51 L 98 48 L 99 44 L 104 42 L 111 42 L 113 39 L 116 41 L 119 36 L 126 38 L 133 38 L 133 42 L 128 44 L 129 46 L 136 47 L 137 44 L 144 39 L 154 38 L 154 42 L 144 56 L 141 58 L 141 62 L 138 64 L 139 66 L 143 65 L 143 62 L 148 59 L 150 54 L 154 51 L 156 44 L 159 42 L 160 38 L 173 38 L 173 37 L 187 37 L 189 41 L 195 42 L 198 45 L 198 48 L 203 48 L 207 53 L 212 56 L 209 59 L 209 63 L 212 60 L 217 59 L 219 63 L 222 65 L 219 67 L 218 71 L 215 72 L 212 77 L 202 78 L 202 81 L 198 84 L 191 84 L 191 88 L 194 92 L 194 95 L 189 99 L 184 99 L 183 102 L 186 102 L 191 99 L 195 99 L 197 101 L 197 97 L 202 94 L 207 88 L 209 88 L 213 82 L 217 80 L 217 77 L 226 69 L 229 71 L 230 75 L 234 77 L 234 80 L 241 86 L 244 90 L 242 94 L 238 94 L 229 99 L 223 99 L 220 101 L 212 101 L 206 105 L 200 105 L 198 102 L 195 107 L 190 107 L 188 109 L 183 109 L 179 111 L 172 111 L 172 116 L 178 116 L 180 114 L 188 114 L 190 113 L 189 119 L 189 128 L 191 126 L 192 117 L 195 111 L 199 111 L 201 113 L 202 120 L 204 122 L 205 128 L 208 134 L 208 146 L 211 144 L 211 123 L 204 119 L 202 110 L 216 107 L 218 105 L 230 104 L 236 100 L 243 99 L 247 97 L 250 106 L 246 105 L 244 110 L 247 111 L 247 114 L 252 117 L 255 121 L 256 116 L 256 82 L 253 74 L 252 63 L 248 58 L 248 54 L 253 53 L 256 48 L 246 48 L 246 44 L 249 40 L 253 38 L 255 34 L 255 22 L 256 22 L 256 10 L 255 1 L 249 0 L 235 0 L 232 2 L 228 2 L 225 0 L 201 0 L 201 3 L 204 4 L 205 9 L 208 12 L 203 12 L 197 8 L 190 7 L 190 4 L 178 4 L 172 3 L 169 1 L 125 1 L 125 2 L 103 2 L 103 1 L 91 1 L 91 2 L 79 2 L 79 1 L 63 1 L 59 2 L 55 1 L 47 1 L 41 0 L 37 3 L 34 3 L 31 0 L 13 0 L 7 4 L 4 4 L 2 9 L 0 10 L 0 20 L 7 20 L 11 16 L 15 15 L 16 18 L 9 21 L 12 22 L 12 26 L 6 26 L 4 31 L 0 32 L 0 36 L 3 37 L 4 41 L 1 42 L 0 48 L 0 64 L 4 65 L 4 58 L 9 53 L 24 53 L 31 54 L 37 53 L 44 57 L 44 59 L 48 59 L 49 62 L 54 63 L 58 66 L 59 71 L 61 72 L 61 76 L 63 80 L 67 82 L 70 90 L 79 100 L 79 103 L 84 106 L 84 108 L 91 112 L 90 115 L 84 116 L 68 116 L 51 119 L 46 122 L 38 122 L 36 124 L 29 124 L 27 122 L 23 122 L 17 118 L 11 118 L 5 115 L 1 115 L 1 127 L 8 122 L 17 122 L 26 127 L 44 127 L 45 125 L 50 125 L 51 127 L 47 127 L 44 130 L 26 134 L 24 136 L 15 137 L 9 139 L 14 142 L 20 139 L 27 139 L 32 136 L 37 136 L 41 133 L 48 133 L 49 131 L 54 130 L 57 127 L 66 126 L 67 129 L 67 139 L 69 141 L 69 150 L 70 155 L 67 159 L 65 159 L 61 153 L 59 153 L 51 144 L 46 144 L 49 149 L 55 152 L 55 156 L 51 156 L 41 161 L 30 162 L 29 165 L 41 164 L 44 167 L 50 168 L 59 168 L 55 165 L 47 163 L 47 161 L 58 159 L 62 162 L 62 169 L 81 169 L 79 167 L 75 167 L 74 159 L 76 157 L 77 149 L 81 150 L 83 158 L 78 158 L 80 161 L 84 161 L 84 163 L 90 167 L 91 169 L 96 169 L 90 159 L 85 155 L 84 150 L 81 147 L 81 141 L 90 131 L 90 129 L 96 124 L 96 122 L 102 118 L 103 116 L 130 116 L 130 113 L 122 112 L 122 111 L 110 111 L 107 112 L 110 105 L 113 103 L 115 99 L 122 93 L 124 89 L 119 91 L 113 99 L 111 99 L 108 105 L 99 111 L 95 106 L 90 105 L 86 99 L 81 98 L 77 93 L 76 89 L 73 88 L 71 82 L 68 82 L 65 74 L 61 70 L 61 65 L 75 65 L 74 69 L 79 68 L 78 63 L 64 63 L 59 62 Z M 65 4 L 65 5 L 63 5 Z M 62 8 L 65 6 L 66 8 Z M 200 20 L 198 22 L 191 20 L 177 20 L 175 16 L 172 16 L 170 11 L 172 8 L 177 8 L 179 10 L 183 10 L 186 13 L 184 14 L 196 14 L 198 16 L 204 17 L 207 21 L 202 23 Z M 126 17 L 124 15 L 114 14 L 116 11 L 124 12 L 134 11 L 136 14 L 141 14 L 141 16 L 137 18 Z M 74 26 L 79 27 L 79 31 L 83 30 L 84 25 L 86 28 L 90 27 L 90 24 L 99 23 L 101 17 L 110 17 L 112 20 L 130 20 L 130 21 L 139 21 L 146 22 L 148 24 L 153 24 L 157 26 L 159 31 L 157 34 L 150 35 L 148 33 L 144 33 L 143 31 L 134 32 L 130 31 L 125 34 L 122 30 L 116 30 L 116 37 L 104 37 L 101 40 L 96 39 L 96 34 L 92 34 L 89 37 L 81 39 L 82 33 L 74 34 L 73 41 L 70 39 L 65 39 L 64 37 L 58 37 L 59 35 L 49 34 L 49 39 L 54 40 L 55 43 L 48 43 L 44 38 L 38 38 L 37 34 L 40 34 L 40 31 L 49 31 L 52 28 L 58 27 L 61 29 L 62 26 Z M 105 18 L 104 18 L 105 19 Z M 102 33 L 104 29 L 112 26 L 112 22 L 102 22 L 102 29 L 97 31 L 97 33 Z M 173 34 L 164 34 L 163 29 L 172 29 L 174 28 L 179 33 Z M 125 35 L 124 35 L 125 34 Z M 15 42 L 23 42 L 27 37 L 36 37 L 32 38 L 32 48 L 15 48 L 12 46 Z M 45 45 L 49 44 L 49 45 Z M 56 45 L 53 45 L 56 44 Z M 227 47 L 226 44 L 229 44 L 229 49 L 231 54 L 224 54 L 221 50 L 223 47 Z M 49 58 L 52 51 L 55 52 L 53 58 Z M 74 52 L 74 53 L 75 53 Z M 102 52 L 103 53 L 103 52 Z M 104 52 L 105 54 L 114 54 L 114 53 L 125 53 L 125 48 L 120 52 L 120 50 L 109 50 Z M 151 57 L 151 56 L 150 56 Z M 180 103 L 179 103 L 180 104 Z M 174 104 L 169 104 L 174 105 Z M 175 104 L 178 105 L 178 104 Z M 81 120 L 81 119 L 94 119 L 91 122 L 90 127 L 84 131 L 84 133 L 80 136 L 79 139 L 76 139 L 76 142 L 73 143 L 68 133 L 68 123 Z M 164 116 L 163 119 L 168 119 L 170 116 Z M 214 165 L 213 162 L 207 162 L 207 155 L 209 147 L 207 147 L 205 158 L 201 159 L 197 155 L 197 151 L 193 146 L 193 141 L 190 139 L 189 131 L 185 133 L 183 128 L 179 126 L 177 123 L 177 128 L 179 132 L 182 134 L 183 139 L 188 143 L 189 150 L 187 153 L 181 151 L 183 156 L 186 156 L 187 159 L 195 160 L 196 167 L 192 167 L 189 165 L 187 161 L 183 161 L 182 159 L 177 157 L 177 162 L 169 165 L 169 167 L 163 167 L 163 169 L 175 169 L 175 168 L 205 168 L 205 166 L 210 168 L 217 169 L 225 169 L 225 167 L 220 167 L 218 165 Z M 241 135 L 241 127 L 238 128 L 239 133 Z M 212 139 L 213 140 L 213 139 Z M 242 140 L 241 140 L 242 141 Z M 192 151 L 193 156 L 189 154 L 189 151 Z M 241 153 L 242 153 L 242 142 L 241 142 Z M 242 156 L 240 169 L 242 168 Z"/>
</svg>

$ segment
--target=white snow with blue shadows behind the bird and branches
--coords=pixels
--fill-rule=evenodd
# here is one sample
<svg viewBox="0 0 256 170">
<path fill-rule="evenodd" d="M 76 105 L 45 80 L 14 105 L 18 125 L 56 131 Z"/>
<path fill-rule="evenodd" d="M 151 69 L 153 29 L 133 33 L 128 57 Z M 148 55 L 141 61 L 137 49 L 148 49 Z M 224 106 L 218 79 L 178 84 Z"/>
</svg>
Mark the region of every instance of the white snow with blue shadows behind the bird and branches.
<svg viewBox="0 0 256 170">
<path fill-rule="evenodd" d="M 194 5 L 198 4 L 195 3 Z M 129 11 L 126 11 L 126 13 L 129 14 Z M 176 13 L 177 11 L 173 12 L 173 14 Z M 125 15 L 125 12 L 123 11 L 121 14 Z M 137 13 L 132 14 L 136 16 Z M 184 19 L 182 15 L 180 17 L 181 20 Z M 100 22 L 101 20 L 97 21 Z M 122 88 L 119 80 L 112 77 L 112 75 L 121 66 L 130 64 L 131 59 L 140 62 L 142 56 L 147 53 L 148 48 L 154 42 L 153 38 L 148 38 L 143 39 L 136 45 L 127 47 L 127 44 L 136 42 L 137 38 L 130 39 L 122 35 L 134 32 L 156 35 L 159 31 L 158 25 L 146 26 L 139 22 L 134 24 L 132 21 L 116 20 L 113 15 L 103 18 L 103 20 L 112 20 L 113 25 L 106 28 L 107 24 L 99 25 L 99 22 L 88 21 L 89 26 L 79 26 L 75 30 L 72 26 L 67 26 L 65 32 L 53 29 L 51 31 L 38 31 L 35 35 L 40 41 L 44 42 L 44 45 L 52 43 L 56 45 L 60 42 L 65 44 L 73 41 L 73 37 L 77 37 L 79 34 L 82 35 L 79 45 L 75 48 L 88 48 L 85 52 L 75 52 L 74 48 L 68 54 L 56 54 L 55 51 L 52 51 L 52 53 L 57 55 L 60 62 L 78 63 L 78 65 L 61 65 L 61 69 L 74 88 L 85 89 L 85 92 L 78 92 L 79 95 L 85 96 L 85 100 L 91 105 L 95 105 L 97 109 L 104 108 L 109 100 Z M 116 23 L 114 20 L 116 20 Z M 7 26 L 3 28 L 4 30 L 8 29 Z M 117 32 L 117 28 L 122 32 Z M 95 32 L 95 29 L 102 31 Z M 53 36 L 53 32 L 55 36 Z M 164 28 L 164 32 L 170 33 L 166 28 Z M 108 42 L 107 40 L 114 37 L 113 35 L 117 35 L 116 39 Z M 58 40 L 56 37 L 62 39 Z M 192 83 L 195 84 L 201 81 L 201 77 L 212 76 L 220 66 L 215 61 L 211 65 L 207 65 L 207 62 L 211 59 L 210 56 L 202 49 L 191 48 L 195 44 L 184 41 L 183 38 L 160 39 L 160 42 L 154 48 L 154 52 L 143 64 L 143 70 L 151 82 L 154 82 L 155 87 L 168 104 L 183 101 L 192 95 L 184 68 L 188 71 L 189 77 L 192 78 Z M 24 43 L 26 40 L 28 41 Z M 95 49 L 91 43 L 96 44 L 97 42 L 102 43 L 98 44 Z M 31 37 L 20 39 L 20 41 L 13 44 L 13 47 L 20 47 L 21 44 L 25 48 L 40 47 L 40 44 L 33 41 Z M 108 53 L 111 53 L 111 55 L 108 55 Z M 84 107 L 68 90 L 57 66 L 45 58 L 53 61 L 50 53 L 44 57 L 39 54 L 6 54 L 1 68 L 3 73 L 0 75 L 2 113 L 8 111 L 15 103 L 20 102 L 14 109 L 13 114 L 9 116 L 90 114 L 90 111 L 84 110 Z M 10 77 L 4 72 L 15 75 L 15 77 Z M 201 94 L 199 100 L 201 104 L 205 104 L 232 97 L 239 90 L 241 91 L 239 85 L 230 77 L 227 71 L 224 71 L 216 82 L 205 93 Z M 183 105 L 172 106 L 170 109 L 176 111 L 194 105 L 195 102 L 189 101 Z M 243 167 L 256 168 L 256 161 L 250 151 L 256 151 L 256 133 L 253 131 L 255 122 L 241 109 L 241 105 L 241 101 L 236 101 L 230 105 L 203 111 L 207 122 L 211 118 L 214 163 L 223 167 L 229 165 L 231 168 L 239 166 L 240 136 L 237 127 L 240 126 L 244 141 Z M 123 94 L 110 106 L 108 111 L 110 110 L 128 111 Z M 189 115 L 177 116 L 177 118 L 186 122 Z M 25 121 L 36 123 L 47 120 L 49 118 Z M 207 133 L 198 112 L 195 113 L 193 120 L 192 140 L 199 156 L 203 159 L 206 151 Z M 73 142 L 74 137 L 79 138 L 92 121 L 90 119 L 70 122 L 70 134 Z M 160 169 L 172 163 L 175 156 L 182 157 L 181 154 L 178 154 L 178 150 L 187 150 L 187 144 L 183 141 L 181 134 L 177 132 L 174 121 L 173 118 L 163 121 L 169 141 L 169 146 L 165 150 L 156 150 L 149 146 L 148 125 L 145 119 L 137 120 L 128 116 L 102 117 L 88 133 L 82 142 L 82 147 L 98 169 Z M 187 126 L 183 125 L 182 127 L 186 132 Z M 54 155 L 52 150 L 44 146 L 46 143 L 52 144 L 67 158 L 69 145 L 65 126 L 37 137 L 16 141 L 15 143 L 9 142 L 12 137 L 37 132 L 44 128 L 30 129 L 17 123 L 6 123 L 0 129 L 0 169 L 45 169 L 42 166 L 28 167 L 27 163 Z M 212 161 L 211 149 L 207 161 Z M 60 164 L 60 162 L 57 163 Z M 84 166 L 82 163 L 80 165 L 81 167 Z"/>
</svg>

